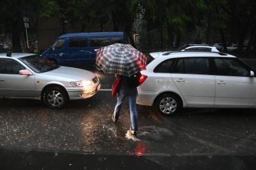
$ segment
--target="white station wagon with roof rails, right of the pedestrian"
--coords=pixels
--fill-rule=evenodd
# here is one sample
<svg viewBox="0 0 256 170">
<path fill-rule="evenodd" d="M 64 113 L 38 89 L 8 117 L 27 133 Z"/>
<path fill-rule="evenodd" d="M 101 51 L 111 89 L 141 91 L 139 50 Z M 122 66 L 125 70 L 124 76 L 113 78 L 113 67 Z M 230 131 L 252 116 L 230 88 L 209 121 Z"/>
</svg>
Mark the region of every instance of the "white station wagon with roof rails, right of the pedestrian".
<svg viewBox="0 0 256 170">
<path fill-rule="evenodd" d="M 163 115 L 181 108 L 255 108 L 255 70 L 219 52 L 160 53 L 142 71 L 137 104 Z"/>
</svg>

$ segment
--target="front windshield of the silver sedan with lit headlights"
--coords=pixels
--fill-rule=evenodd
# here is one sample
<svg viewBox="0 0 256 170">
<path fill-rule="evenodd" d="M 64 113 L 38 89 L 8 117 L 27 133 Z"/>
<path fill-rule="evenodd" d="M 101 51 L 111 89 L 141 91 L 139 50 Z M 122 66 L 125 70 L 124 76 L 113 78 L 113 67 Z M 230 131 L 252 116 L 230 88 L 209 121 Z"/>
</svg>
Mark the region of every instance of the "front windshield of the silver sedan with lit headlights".
<svg viewBox="0 0 256 170">
<path fill-rule="evenodd" d="M 39 55 L 24 56 L 19 59 L 20 61 L 28 65 L 28 67 L 30 67 L 36 73 L 44 73 L 60 67 L 59 65 L 55 64 L 53 61 L 46 58 L 42 58 Z"/>
</svg>

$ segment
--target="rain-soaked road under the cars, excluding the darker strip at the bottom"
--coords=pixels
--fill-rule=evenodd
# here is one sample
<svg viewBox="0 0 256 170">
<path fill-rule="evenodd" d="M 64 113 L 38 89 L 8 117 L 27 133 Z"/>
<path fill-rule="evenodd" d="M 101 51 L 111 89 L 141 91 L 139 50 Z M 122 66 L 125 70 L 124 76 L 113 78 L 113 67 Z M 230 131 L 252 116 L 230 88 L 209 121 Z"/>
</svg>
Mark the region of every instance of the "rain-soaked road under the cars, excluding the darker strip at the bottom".
<svg viewBox="0 0 256 170">
<path fill-rule="evenodd" d="M 113 75 L 93 72 L 103 90 L 111 88 Z M 46 151 L 54 156 L 70 152 L 155 157 L 256 154 L 255 109 L 184 109 L 175 117 L 162 117 L 151 107 L 137 106 L 140 141 L 133 141 L 125 138 L 130 127 L 128 102 L 117 124 L 111 121 L 115 104 L 110 91 L 70 101 L 60 110 L 36 100 L 0 99 L 0 150 Z"/>
</svg>

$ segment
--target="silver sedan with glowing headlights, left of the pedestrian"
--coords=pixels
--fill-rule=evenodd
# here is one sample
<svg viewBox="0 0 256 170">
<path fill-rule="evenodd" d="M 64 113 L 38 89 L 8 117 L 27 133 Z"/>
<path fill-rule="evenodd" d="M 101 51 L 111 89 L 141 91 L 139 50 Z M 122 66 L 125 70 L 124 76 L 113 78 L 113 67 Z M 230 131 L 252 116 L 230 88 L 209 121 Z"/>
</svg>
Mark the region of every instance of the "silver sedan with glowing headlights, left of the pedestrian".
<svg viewBox="0 0 256 170">
<path fill-rule="evenodd" d="M 31 53 L 0 54 L 0 97 L 42 100 L 57 109 L 68 100 L 92 97 L 99 88 L 91 71 L 63 67 Z"/>
</svg>

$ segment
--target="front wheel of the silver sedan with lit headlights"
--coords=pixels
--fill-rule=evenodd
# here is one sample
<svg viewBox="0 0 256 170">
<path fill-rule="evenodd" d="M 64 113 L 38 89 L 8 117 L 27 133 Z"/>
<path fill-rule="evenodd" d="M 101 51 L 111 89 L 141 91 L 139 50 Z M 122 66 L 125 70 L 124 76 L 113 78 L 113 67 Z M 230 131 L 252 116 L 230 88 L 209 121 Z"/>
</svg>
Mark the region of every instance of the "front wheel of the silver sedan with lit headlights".
<svg viewBox="0 0 256 170">
<path fill-rule="evenodd" d="M 48 88 L 43 95 L 45 105 L 52 109 L 62 108 L 66 104 L 67 99 L 66 92 L 60 87 Z"/>
</svg>

